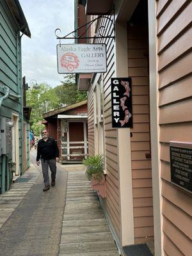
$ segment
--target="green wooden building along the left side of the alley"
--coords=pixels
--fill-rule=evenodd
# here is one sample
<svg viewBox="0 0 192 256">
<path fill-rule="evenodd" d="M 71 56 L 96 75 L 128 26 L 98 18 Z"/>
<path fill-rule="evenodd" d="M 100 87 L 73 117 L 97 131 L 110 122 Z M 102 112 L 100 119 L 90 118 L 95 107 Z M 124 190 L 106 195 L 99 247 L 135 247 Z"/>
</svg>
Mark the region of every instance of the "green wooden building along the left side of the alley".
<svg viewBox="0 0 192 256">
<path fill-rule="evenodd" d="M 1 193 L 9 189 L 14 175 L 18 177 L 29 166 L 28 116 L 30 110 L 23 109 L 22 97 L 21 38 L 23 34 L 31 37 L 19 0 L 0 1 Z"/>
</svg>

